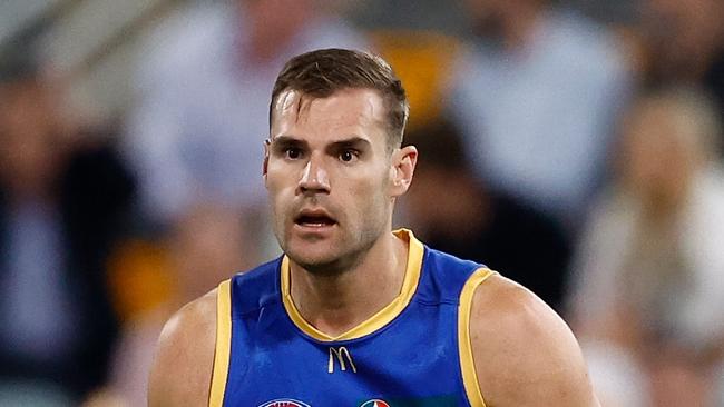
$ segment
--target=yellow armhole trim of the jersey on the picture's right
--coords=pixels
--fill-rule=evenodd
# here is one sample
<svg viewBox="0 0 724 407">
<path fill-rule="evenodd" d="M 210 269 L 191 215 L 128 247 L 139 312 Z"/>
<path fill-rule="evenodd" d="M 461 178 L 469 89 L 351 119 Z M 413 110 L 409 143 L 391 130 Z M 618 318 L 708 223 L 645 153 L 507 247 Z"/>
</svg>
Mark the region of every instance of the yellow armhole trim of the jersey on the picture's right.
<svg viewBox="0 0 724 407">
<path fill-rule="evenodd" d="M 473 272 L 460 294 L 460 305 L 458 307 L 458 348 L 460 350 L 460 367 L 462 369 L 462 384 L 468 395 L 468 400 L 473 407 L 486 407 L 482 399 L 482 393 L 478 385 L 478 374 L 472 357 L 472 341 L 470 340 L 470 312 L 472 310 L 472 298 L 476 288 L 480 286 L 488 277 L 496 274 L 487 268 L 479 268 Z"/>
</svg>

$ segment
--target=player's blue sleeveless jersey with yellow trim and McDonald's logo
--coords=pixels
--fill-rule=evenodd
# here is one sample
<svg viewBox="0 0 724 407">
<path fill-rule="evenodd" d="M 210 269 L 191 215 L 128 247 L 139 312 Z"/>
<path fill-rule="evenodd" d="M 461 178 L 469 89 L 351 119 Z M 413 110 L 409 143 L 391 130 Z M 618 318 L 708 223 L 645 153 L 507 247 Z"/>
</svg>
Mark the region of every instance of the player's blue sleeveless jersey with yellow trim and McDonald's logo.
<svg viewBox="0 0 724 407">
<path fill-rule="evenodd" d="M 395 234 L 410 248 L 400 295 L 339 337 L 295 308 L 286 257 L 224 281 L 209 406 L 485 406 L 469 318 L 492 271 Z"/>
</svg>

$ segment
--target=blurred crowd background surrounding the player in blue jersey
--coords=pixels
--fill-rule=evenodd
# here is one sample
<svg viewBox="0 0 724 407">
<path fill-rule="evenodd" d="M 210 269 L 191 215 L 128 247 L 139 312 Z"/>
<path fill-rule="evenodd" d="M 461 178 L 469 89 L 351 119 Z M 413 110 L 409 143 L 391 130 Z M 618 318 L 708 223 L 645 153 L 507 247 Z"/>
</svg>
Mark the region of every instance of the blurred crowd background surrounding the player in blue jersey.
<svg viewBox="0 0 724 407">
<path fill-rule="evenodd" d="M 278 255 L 271 89 L 326 47 L 408 89 L 398 225 L 559 311 L 605 407 L 724 406 L 722 21 L 721 0 L 3 0 L 0 406 L 146 405 L 164 321 Z"/>
</svg>

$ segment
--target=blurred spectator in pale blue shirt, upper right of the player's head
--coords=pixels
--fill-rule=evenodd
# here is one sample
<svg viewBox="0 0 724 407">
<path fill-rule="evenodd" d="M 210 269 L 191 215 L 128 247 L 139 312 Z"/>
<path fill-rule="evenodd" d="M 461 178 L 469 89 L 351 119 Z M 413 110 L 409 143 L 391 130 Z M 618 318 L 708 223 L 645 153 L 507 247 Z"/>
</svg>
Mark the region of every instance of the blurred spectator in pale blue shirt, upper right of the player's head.
<svg viewBox="0 0 724 407">
<path fill-rule="evenodd" d="M 567 227 L 603 175 L 629 78 L 614 38 L 548 0 L 467 0 L 478 38 L 451 113 L 486 181 Z"/>
</svg>

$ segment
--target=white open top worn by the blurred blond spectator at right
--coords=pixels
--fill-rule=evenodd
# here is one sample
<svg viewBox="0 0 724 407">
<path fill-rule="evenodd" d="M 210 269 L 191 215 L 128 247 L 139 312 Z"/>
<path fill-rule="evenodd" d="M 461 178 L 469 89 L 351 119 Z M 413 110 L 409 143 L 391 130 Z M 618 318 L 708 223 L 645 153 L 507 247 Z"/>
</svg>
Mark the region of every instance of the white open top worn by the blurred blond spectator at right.
<svg viewBox="0 0 724 407">
<path fill-rule="evenodd" d="M 605 318 L 629 284 L 626 261 L 637 256 L 640 212 L 635 202 L 609 195 L 596 207 L 573 262 L 571 311 L 583 325 Z M 676 234 L 687 280 L 668 309 L 659 310 L 672 339 L 693 349 L 724 338 L 724 171 L 703 170 L 694 180 Z M 665 255 L 665 254 L 664 254 Z M 636 271 L 636 270 L 633 270 Z"/>
</svg>

